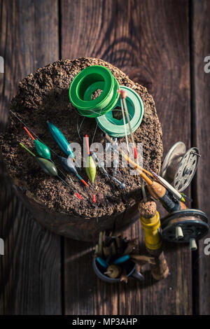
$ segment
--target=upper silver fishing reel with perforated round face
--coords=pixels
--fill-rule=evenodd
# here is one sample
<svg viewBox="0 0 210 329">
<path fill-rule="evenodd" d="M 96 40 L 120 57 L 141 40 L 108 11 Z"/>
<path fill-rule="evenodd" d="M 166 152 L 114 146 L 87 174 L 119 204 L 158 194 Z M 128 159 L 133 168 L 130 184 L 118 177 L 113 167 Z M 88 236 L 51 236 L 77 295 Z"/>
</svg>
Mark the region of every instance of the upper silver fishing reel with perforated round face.
<svg viewBox="0 0 210 329">
<path fill-rule="evenodd" d="M 161 176 L 171 183 L 176 190 L 185 190 L 195 175 L 200 154 L 193 147 L 186 151 L 186 145 L 178 141 L 170 148 L 162 163 Z"/>
</svg>

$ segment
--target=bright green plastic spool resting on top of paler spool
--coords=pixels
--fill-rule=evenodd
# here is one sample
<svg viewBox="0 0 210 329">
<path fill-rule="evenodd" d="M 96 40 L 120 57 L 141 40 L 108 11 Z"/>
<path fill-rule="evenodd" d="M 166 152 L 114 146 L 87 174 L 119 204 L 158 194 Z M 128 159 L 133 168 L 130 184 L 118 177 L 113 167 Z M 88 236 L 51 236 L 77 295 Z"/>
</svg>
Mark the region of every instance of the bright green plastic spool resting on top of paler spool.
<svg viewBox="0 0 210 329">
<path fill-rule="evenodd" d="M 118 102 L 119 83 L 104 66 L 88 66 L 73 79 L 69 99 L 82 116 L 97 118 L 109 112 Z M 103 90 L 96 99 L 92 93 Z"/>
</svg>

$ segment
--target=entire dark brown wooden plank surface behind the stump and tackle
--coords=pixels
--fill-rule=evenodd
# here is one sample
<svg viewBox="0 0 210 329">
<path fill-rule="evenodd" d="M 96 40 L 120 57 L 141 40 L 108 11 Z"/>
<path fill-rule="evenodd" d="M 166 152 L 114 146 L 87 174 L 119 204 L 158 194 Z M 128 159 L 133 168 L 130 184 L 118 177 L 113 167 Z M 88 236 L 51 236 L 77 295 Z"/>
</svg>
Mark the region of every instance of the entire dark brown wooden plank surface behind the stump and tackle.
<svg viewBox="0 0 210 329">
<path fill-rule="evenodd" d="M 202 153 L 193 207 L 210 214 L 210 1 L 0 0 L 1 127 L 18 81 L 59 58 L 100 57 L 148 87 L 165 153 L 176 141 Z M 209 314 L 210 255 L 204 242 L 166 244 L 171 275 L 108 285 L 92 272 L 92 244 L 43 229 L 15 197 L 1 165 L 0 314 Z M 127 236 L 143 242 L 139 223 Z"/>
</svg>

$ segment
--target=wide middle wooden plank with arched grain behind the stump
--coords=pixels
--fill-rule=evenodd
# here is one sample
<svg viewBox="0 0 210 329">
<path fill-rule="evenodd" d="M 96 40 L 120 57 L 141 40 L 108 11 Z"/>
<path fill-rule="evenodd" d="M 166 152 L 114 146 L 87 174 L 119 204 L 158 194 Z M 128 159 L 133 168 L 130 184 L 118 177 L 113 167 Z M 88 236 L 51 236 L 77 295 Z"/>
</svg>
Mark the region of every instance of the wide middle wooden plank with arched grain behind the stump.
<svg viewBox="0 0 210 329">
<path fill-rule="evenodd" d="M 179 140 L 189 146 L 188 1 L 62 0 L 61 9 L 62 57 L 100 57 L 124 68 L 153 94 L 165 151 Z M 139 236 L 143 243 L 139 223 L 126 234 Z M 66 314 L 192 313 L 188 247 L 167 244 L 172 274 L 165 281 L 154 283 L 146 274 L 142 286 L 135 281 L 109 286 L 95 278 L 90 253 L 80 257 L 78 246 L 81 251 L 90 248 L 90 244 L 65 241 Z M 72 293 L 77 297 L 70 300 Z"/>
</svg>

